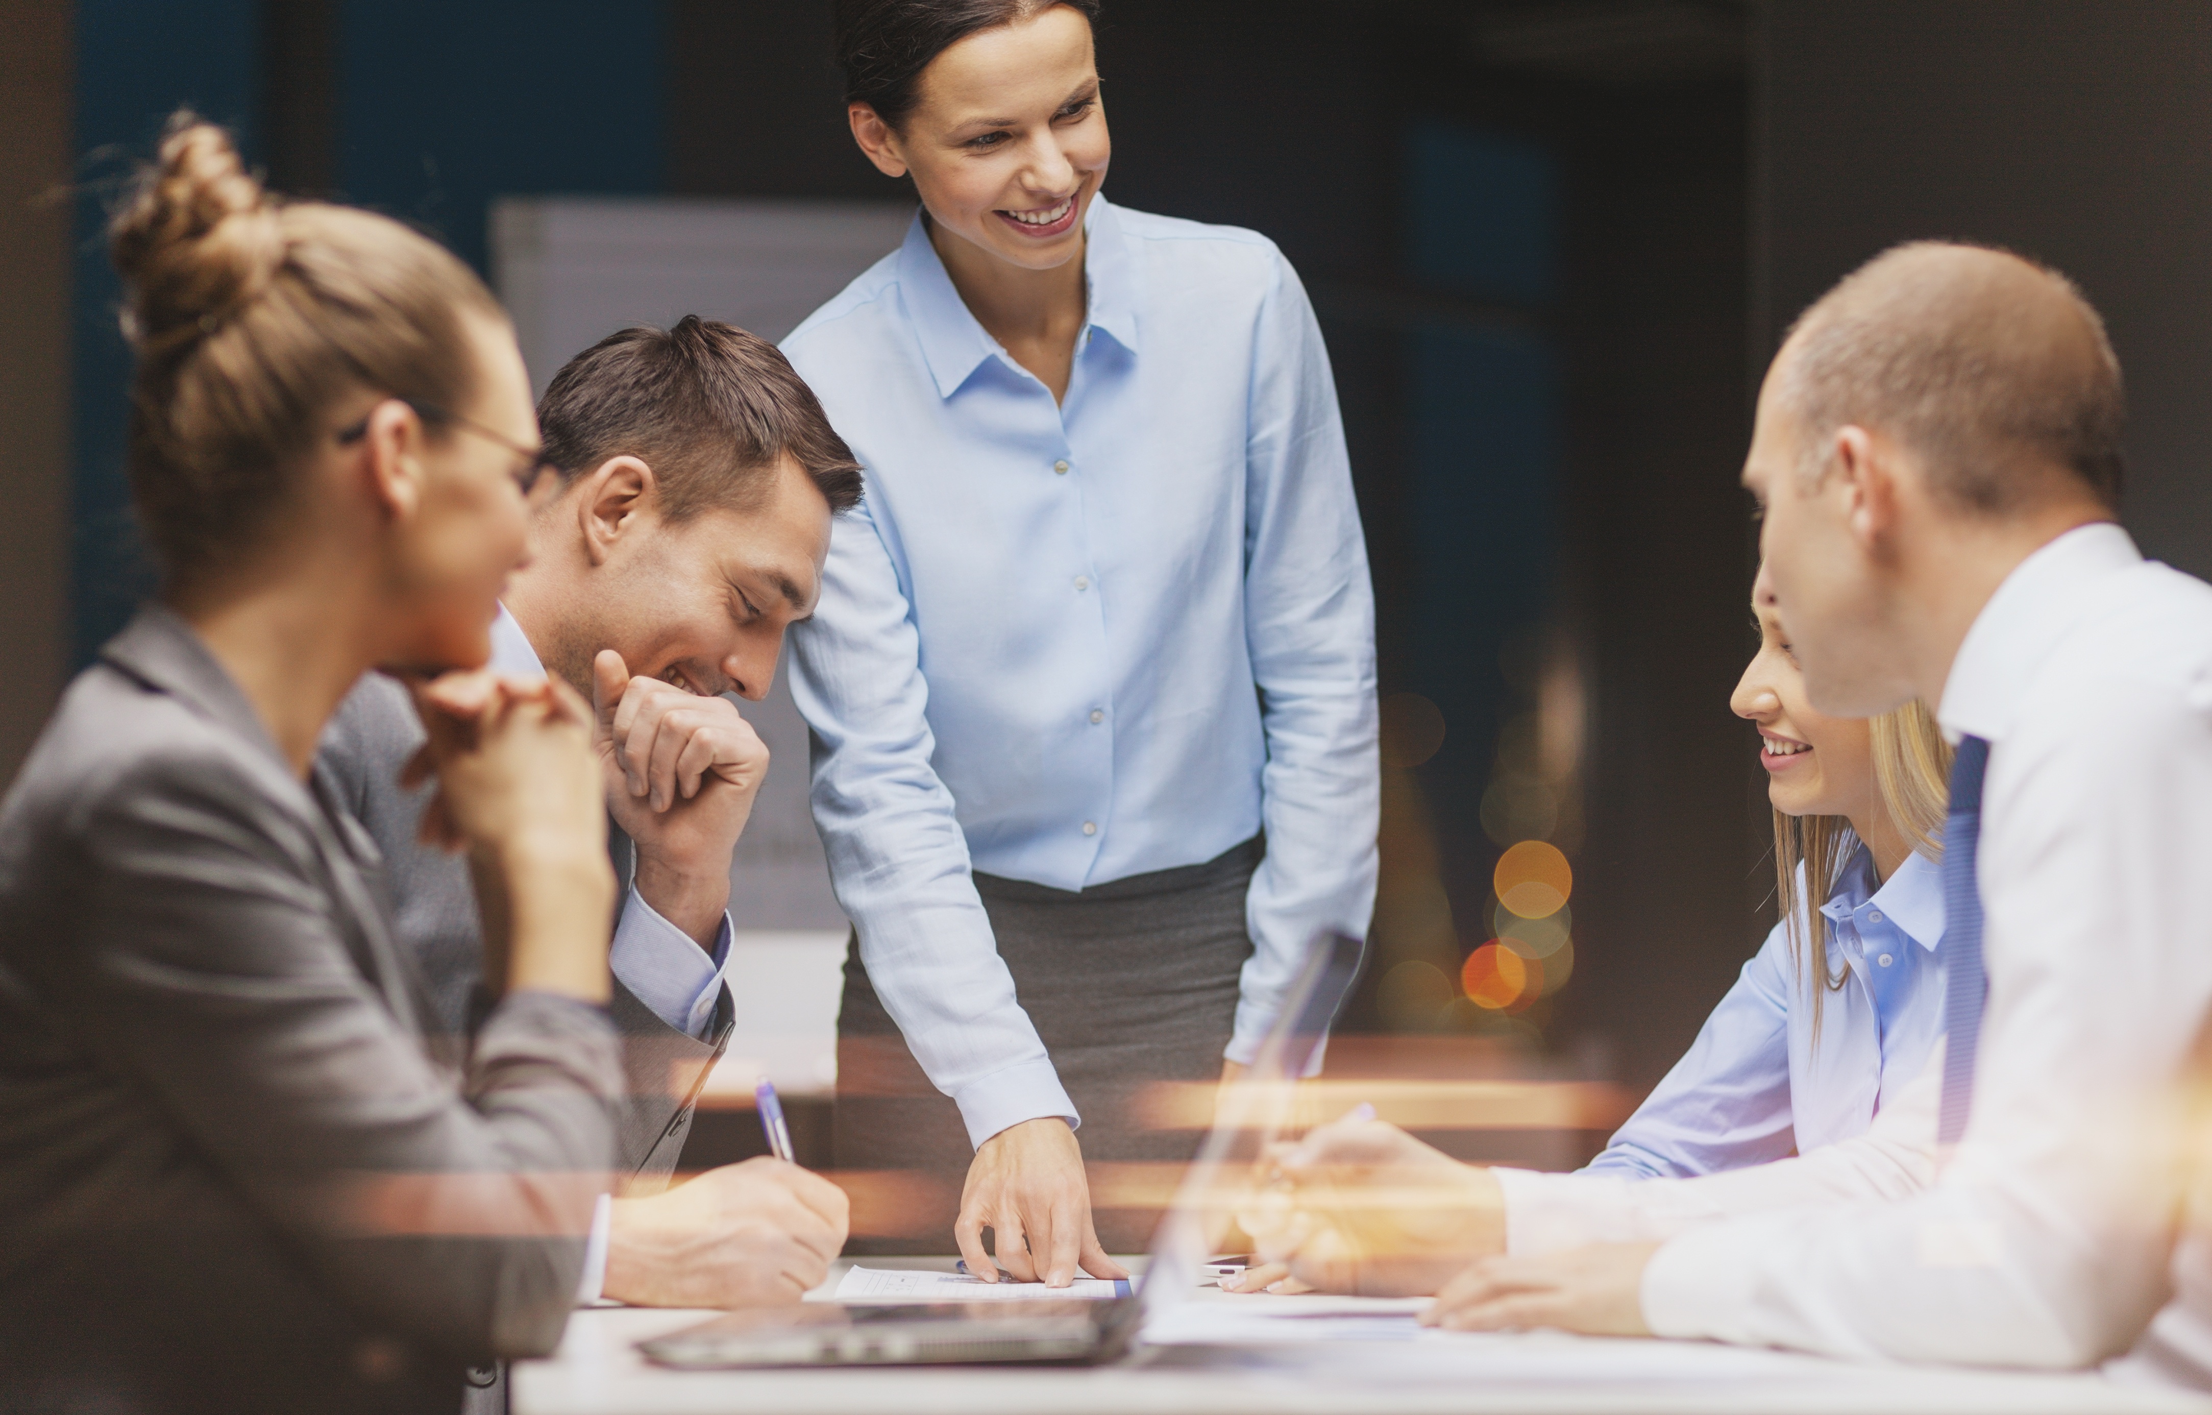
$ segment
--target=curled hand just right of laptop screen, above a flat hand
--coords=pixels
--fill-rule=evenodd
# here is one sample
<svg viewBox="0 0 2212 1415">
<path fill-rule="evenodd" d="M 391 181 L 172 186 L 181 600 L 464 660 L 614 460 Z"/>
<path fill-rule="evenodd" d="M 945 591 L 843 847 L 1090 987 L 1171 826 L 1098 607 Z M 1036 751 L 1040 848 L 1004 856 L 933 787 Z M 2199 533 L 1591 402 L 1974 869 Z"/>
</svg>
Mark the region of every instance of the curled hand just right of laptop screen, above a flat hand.
<svg viewBox="0 0 2212 1415">
<path fill-rule="evenodd" d="M 1263 1262 L 1228 1291 L 1420 1296 L 1504 1249 L 1491 1172 L 1383 1121 L 1321 1125 L 1259 1170 L 1237 1223 Z"/>
</svg>

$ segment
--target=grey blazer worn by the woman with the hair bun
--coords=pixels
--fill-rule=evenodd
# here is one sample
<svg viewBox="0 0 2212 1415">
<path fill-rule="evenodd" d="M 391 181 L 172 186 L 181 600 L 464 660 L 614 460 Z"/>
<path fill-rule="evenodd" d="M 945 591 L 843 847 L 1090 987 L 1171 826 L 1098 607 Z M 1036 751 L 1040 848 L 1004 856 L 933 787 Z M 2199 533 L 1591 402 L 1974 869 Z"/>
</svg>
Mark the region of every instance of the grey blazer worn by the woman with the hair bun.
<svg viewBox="0 0 2212 1415">
<path fill-rule="evenodd" d="M 622 1090 L 513 995 L 458 1068 L 374 842 L 175 615 L 0 803 L 0 1408 L 458 1408 L 551 1351 Z"/>
</svg>

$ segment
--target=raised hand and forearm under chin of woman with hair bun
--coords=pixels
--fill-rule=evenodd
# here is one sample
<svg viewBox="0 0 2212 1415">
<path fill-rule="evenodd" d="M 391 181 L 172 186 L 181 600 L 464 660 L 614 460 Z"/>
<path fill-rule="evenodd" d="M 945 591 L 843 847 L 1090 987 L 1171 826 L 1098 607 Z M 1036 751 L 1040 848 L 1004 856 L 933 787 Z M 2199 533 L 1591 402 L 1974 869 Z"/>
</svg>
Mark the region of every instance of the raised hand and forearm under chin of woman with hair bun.
<svg viewBox="0 0 2212 1415">
<path fill-rule="evenodd" d="M 489 672 L 414 696 L 429 741 L 403 785 L 438 778 L 422 838 L 469 851 L 487 982 L 604 1004 L 615 871 L 591 708 L 566 683 Z"/>
</svg>

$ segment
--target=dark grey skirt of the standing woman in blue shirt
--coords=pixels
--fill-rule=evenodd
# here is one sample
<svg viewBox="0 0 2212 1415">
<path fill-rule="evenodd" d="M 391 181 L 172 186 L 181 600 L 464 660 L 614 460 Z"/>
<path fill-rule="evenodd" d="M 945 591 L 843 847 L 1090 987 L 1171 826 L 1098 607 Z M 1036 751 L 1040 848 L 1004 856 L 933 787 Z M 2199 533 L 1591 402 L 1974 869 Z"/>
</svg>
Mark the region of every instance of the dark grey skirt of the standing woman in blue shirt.
<svg viewBox="0 0 2212 1415">
<path fill-rule="evenodd" d="M 1144 1251 L 1159 1207 L 1115 1203 L 1130 1185 L 1099 1183 L 1102 1167 L 1188 1163 L 1203 1139 L 1199 1130 L 1146 1125 L 1137 1103 L 1157 1081 L 1221 1077 L 1237 979 L 1252 957 L 1245 891 L 1263 856 L 1265 842 L 1252 838 L 1206 864 L 1077 893 L 975 876 L 1015 997 L 1082 1114 L 1077 1139 L 1093 1167 L 1093 1220 L 1106 1251 Z M 836 1167 L 909 1176 L 894 1181 L 902 1189 L 900 1231 L 863 1234 L 856 1223 L 849 1251 L 953 1251 L 960 1185 L 975 1152 L 960 1108 L 929 1083 L 876 997 L 858 935 L 845 948 L 836 1059 Z"/>
</svg>

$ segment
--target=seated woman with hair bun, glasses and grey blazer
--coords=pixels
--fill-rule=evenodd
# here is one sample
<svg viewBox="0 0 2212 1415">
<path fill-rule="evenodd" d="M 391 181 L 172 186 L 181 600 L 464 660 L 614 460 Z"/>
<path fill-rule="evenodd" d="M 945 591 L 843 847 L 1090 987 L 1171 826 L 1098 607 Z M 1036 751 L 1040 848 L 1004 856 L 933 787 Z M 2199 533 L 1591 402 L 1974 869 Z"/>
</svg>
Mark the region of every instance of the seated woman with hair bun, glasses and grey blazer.
<svg viewBox="0 0 2212 1415">
<path fill-rule="evenodd" d="M 0 805 L 0 1408 L 453 1411 L 560 1340 L 622 1092 L 591 710 L 469 672 L 529 378 L 467 265 L 190 115 L 111 234 L 161 590 Z M 374 668 L 493 924 L 467 1055 L 310 776 Z"/>
</svg>

